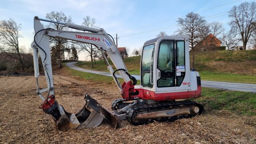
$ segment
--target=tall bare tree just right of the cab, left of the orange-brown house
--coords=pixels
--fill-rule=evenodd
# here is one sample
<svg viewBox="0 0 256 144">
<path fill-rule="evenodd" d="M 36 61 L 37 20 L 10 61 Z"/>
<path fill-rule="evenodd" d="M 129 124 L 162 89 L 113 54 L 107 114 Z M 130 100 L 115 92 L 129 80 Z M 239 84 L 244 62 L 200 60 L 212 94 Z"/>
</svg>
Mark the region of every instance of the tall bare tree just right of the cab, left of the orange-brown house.
<svg viewBox="0 0 256 144">
<path fill-rule="evenodd" d="M 200 40 L 200 31 L 203 26 L 206 25 L 206 20 L 199 14 L 190 12 L 186 15 L 186 18 L 178 18 L 177 20 L 178 28 L 177 32 L 181 36 L 188 36 L 189 37 L 189 45 L 190 45 L 190 52 L 192 55 L 191 59 L 191 66 L 194 67 L 194 52 L 195 46 L 198 44 Z"/>
</svg>

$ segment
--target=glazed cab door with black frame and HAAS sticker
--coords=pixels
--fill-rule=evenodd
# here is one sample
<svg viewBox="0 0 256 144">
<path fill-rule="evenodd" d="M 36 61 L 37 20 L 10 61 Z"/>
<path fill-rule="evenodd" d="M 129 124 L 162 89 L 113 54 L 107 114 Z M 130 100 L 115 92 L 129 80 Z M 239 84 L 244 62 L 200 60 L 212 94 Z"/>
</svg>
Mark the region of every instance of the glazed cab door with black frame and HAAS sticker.
<svg viewBox="0 0 256 144">
<path fill-rule="evenodd" d="M 185 42 L 162 40 L 158 47 L 156 91 L 182 90 L 185 77 Z"/>
</svg>

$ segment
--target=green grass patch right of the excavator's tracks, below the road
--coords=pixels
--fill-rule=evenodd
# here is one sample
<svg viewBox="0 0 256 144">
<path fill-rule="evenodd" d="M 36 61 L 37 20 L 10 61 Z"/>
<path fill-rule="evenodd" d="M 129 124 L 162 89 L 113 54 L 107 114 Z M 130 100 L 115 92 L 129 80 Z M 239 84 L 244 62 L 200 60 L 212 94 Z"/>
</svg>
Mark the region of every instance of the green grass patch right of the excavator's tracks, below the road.
<svg viewBox="0 0 256 144">
<path fill-rule="evenodd" d="M 255 93 L 202 88 L 202 96 L 196 100 L 204 105 L 207 112 L 229 110 L 237 115 L 256 116 Z"/>
</svg>

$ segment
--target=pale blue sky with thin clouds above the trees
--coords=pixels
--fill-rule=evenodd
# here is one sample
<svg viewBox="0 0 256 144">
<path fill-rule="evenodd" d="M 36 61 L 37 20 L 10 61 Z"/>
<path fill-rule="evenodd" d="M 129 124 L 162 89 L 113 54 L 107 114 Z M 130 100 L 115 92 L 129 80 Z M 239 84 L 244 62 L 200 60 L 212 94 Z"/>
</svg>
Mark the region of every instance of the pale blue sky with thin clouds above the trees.
<svg viewBox="0 0 256 144">
<path fill-rule="evenodd" d="M 20 46 L 29 51 L 34 16 L 45 19 L 52 11 L 63 12 L 78 25 L 90 16 L 108 34 L 116 37 L 117 33 L 118 47 L 126 47 L 132 53 L 161 31 L 174 34 L 178 18 L 185 18 L 190 12 L 200 14 L 208 22 L 221 22 L 229 30 L 227 12 L 246 1 L 253 0 L 1 0 L 0 20 L 13 18 L 21 24 Z M 81 52 L 79 60 L 88 57 Z"/>
</svg>

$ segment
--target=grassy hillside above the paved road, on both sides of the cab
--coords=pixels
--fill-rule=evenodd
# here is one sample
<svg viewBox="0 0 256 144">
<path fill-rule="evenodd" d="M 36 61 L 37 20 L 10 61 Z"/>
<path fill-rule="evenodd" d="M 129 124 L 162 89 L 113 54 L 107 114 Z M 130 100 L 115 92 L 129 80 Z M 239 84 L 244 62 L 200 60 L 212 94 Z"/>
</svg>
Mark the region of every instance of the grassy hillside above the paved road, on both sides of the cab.
<svg viewBox="0 0 256 144">
<path fill-rule="evenodd" d="M 124 63 L 131 74 L 140 74 L 140 56 L 124 58 Z M 96 61 L 94 68 L 90 62 L 78 62 L 77 66 L 108 71 L 104 60 Z M 194 68 L 202 80 L 256 83 L 256 50 L 200 52 L 195 56 Z"/>
</svg>

